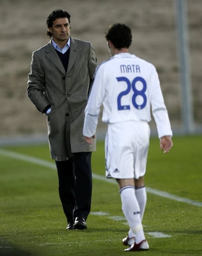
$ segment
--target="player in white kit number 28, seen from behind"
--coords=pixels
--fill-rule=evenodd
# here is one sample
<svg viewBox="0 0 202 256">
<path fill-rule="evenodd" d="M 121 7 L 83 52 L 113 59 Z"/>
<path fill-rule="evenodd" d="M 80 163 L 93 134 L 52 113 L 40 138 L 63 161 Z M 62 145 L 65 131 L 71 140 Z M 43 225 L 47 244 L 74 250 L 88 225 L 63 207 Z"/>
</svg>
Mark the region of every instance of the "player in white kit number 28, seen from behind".
<svg viewBox="0 0 202 256">
<path fill-rule="evenodd" d="M 100 106 L 102 121 L 108 123 L 105 136 L 107 178 L 117 180 L 122 210 L 130 230 L 125 251 L 148 250 L 142 219 L 146 205 L 144 175 L 149 148 L 150 108 L 157 124 L 160 148 L 172 148 L 172 130 L 157 71 L 153 64 L 130 54 L 131 29 L 114 24 L 105 35 L 112 57 L 99 65 L 85 108 L 83 134 L 93 143 Z"/>
</svg>

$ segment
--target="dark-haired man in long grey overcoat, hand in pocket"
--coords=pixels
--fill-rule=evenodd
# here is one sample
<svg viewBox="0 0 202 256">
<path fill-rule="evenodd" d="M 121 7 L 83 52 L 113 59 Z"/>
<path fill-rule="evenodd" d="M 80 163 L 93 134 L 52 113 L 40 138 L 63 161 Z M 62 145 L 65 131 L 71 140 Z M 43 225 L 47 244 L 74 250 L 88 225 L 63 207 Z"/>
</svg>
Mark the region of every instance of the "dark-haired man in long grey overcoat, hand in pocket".
<svg viewBox="0 0 202 256">
<path fill-rule="evenodd" d="M 90 42 L 70 37 L 68 12 L 54 10 L 47 27 L 51 41 L 33 52 L 27 95 L 47 115 L 49 148 L 56 161 L 67 229 L 85 229 L 95 141 L 85 142 L 82 127 L 97 59 Z"/>
</svg>

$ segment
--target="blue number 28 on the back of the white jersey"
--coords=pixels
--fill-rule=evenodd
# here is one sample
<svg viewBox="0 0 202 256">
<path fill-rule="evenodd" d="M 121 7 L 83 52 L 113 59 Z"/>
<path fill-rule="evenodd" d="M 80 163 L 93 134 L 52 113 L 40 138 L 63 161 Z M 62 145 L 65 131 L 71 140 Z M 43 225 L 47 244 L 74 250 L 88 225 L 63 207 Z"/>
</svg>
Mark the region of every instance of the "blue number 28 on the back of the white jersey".
<svg viewBox="0 0 202 256">
<path fill-rule="evenodd" d="M 143 109 L 146 105 L 146 95 L 145 95 L 146 81 L 144 80 L 144 78 L 135 77 L 134 80 L 132 80 L 132 82 L 130 82 L 130 80 L 128 80 L 127 77 L 117 77 L 116 79 L 118 82 L 126 82 L 127 84 L 127 89 L 125 91 L 120 92 L 120 94 L 118 94 L 118 98 L 117 98 L 118 110 L 130 109 L 130 105 L 121 104 L 121 98 L 127 95 L 131 91 L 131 88 L 134 91 L 134 94 L 132 95 L 132 104 L 136 109 Z M 136 82 L 141 82 L 143 84 L 143 88 L 141 90 L 137 90 Z M 141 105 L 137 104 L 137 101 L 136 101 L 136 97 L 138 95 L 143 98 L 143 103 Z"/>
</svg>

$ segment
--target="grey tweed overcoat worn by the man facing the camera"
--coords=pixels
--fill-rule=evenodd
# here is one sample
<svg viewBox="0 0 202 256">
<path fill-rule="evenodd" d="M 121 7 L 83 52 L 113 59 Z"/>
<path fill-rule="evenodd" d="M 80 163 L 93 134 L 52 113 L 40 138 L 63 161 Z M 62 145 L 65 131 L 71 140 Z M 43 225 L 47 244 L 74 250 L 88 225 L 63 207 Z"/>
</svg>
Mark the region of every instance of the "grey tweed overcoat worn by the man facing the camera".
<svg viewBox="0 0 202 256">
<path fill-rule="evenodd" d="M 67 160 L 71 152 L 95 151 L 95 142 L 85 142 L 82 127 L 96 67 L 91 43 L 75 38 L 71 38 L 67 72 L 51 41 L 33 52 L 27 95 L 42 113 L 51 104 L 48 139 L 51 157 L 56 161 Z"/>
</svg>

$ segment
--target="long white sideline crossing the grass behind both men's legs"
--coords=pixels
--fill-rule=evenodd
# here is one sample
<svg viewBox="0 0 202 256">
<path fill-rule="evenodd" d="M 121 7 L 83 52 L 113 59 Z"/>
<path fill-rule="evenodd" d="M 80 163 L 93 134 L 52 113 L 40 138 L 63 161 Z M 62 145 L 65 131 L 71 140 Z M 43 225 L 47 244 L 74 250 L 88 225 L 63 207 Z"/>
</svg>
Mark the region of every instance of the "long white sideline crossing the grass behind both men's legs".
<svg viewBox="0 0 202 256">
<path fill-rule="evenodd" d="M 8 151 L 8 150 L 5 150 L 5 149 L 0 149 L 0 155 L 10 157 L 10 158 L 13 158 L 13 159 L 16 159 L 16 160 L 31 162 L 33 164 L 40 165 L 40 166 L 45 166 L 45 167 L 48 167 L 48 168 L 51 168 L 51 169 L 54 169 L 54 170 L 56 169 L 55 164 L 52 164 L 49 161 L 41 160 L 40 158 L 36 158 L 36 157 L 26 156 L 26 155 L 16 153 L 16 152 L 12 152 L 12 151 Z M 107 178 L 105 178 L 101 175 L 98 175 L 98 174 L 93 174 L 93 178 L 98 179 L 98 180 L 102 180 L 103 182 L 117 184 L 114 179 L 107 179 Z M 171 200 L 175 200 L 175 201 L 179 201 L 179 202 L 185 202 L 186 204 L 200 206 L 200 207 L 202 206 L 202 202 L 194 201 L 194 200 L 191 200 L 189 198 L 185 198 L 185 197 L 181 197 L 181 196 L 172 195 L 170 193 L 167 193 L 167 192 L 164 192 L 164 191 L 159 191 L 159 190 L 154 189 L 154 188 L 146 187 L 146 191 L 151 193 L 151 194 L 161 196 L 161 197 L 166 197 L 166 198 L 171 199 Z"/>
</svg>

